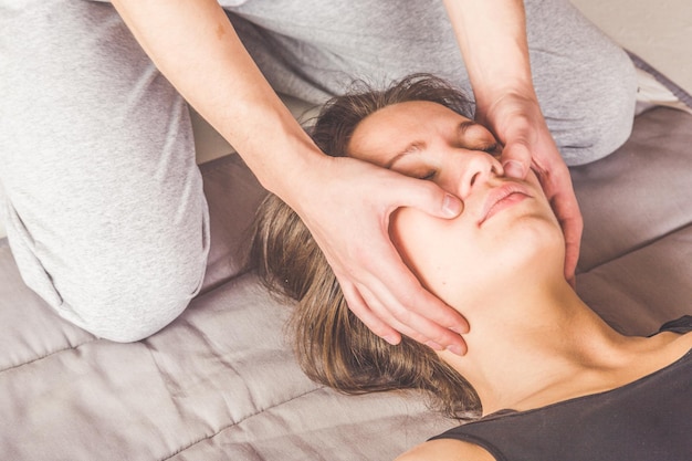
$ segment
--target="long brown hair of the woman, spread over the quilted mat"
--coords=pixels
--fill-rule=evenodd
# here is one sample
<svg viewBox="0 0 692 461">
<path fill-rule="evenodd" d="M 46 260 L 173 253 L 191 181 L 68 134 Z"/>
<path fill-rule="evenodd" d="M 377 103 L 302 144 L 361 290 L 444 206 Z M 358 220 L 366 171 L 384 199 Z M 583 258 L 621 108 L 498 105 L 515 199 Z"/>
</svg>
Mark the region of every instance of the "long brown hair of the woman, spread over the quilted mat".
<svg viewBox="0 0 692 461">
<path fill-rule="evenodd" d="M 461 91 L 428 74 L 411 75 L 385 91 L 358 83 L 357 90 L 324 106 L 313 139 L 323 151 L 345 156 L 360 121 L 407 101 L 439 103 L 466 116 L 470 107 Z M 422 390 L 431 407 L 449 417 L 479 417 L 481 404 L 473 388 L 432 349 L 408 337 L 392 346 L 350 312 L 310 231 L 276 196 L 268 196 L 258 210 L 250 258 L 273 293 L 294 301 L 290 334 L 311 379 L 355 395 Z"/>
</svg>

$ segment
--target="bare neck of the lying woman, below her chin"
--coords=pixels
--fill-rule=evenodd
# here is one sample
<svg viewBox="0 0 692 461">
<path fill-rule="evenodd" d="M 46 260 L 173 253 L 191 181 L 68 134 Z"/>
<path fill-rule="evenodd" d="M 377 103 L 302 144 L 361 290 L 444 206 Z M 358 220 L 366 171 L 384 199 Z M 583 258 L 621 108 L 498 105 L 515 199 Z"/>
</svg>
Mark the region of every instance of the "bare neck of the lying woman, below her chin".
<svg viewBox="0 0 692 461">
<path fill-rule="evenodd" d="M 651 350 L 647 338 L 608 326 L 566 282 L 504 286 L 463 313 L 471 325 L 469 352 L 441 357 L 475 388 L 484 415 L 617 387 Z"/>
</svg>

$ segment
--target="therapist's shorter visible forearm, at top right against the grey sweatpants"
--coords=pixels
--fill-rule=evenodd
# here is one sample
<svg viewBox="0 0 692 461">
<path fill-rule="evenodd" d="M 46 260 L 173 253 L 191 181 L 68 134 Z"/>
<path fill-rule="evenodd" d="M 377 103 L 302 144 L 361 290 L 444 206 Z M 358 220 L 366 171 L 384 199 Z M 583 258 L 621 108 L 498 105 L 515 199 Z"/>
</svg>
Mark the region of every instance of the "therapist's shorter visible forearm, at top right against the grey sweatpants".
<svg viewBox="0 0 692 461">
<path fill-rule="evenodd" d="M 503 93 L 533 94 L 522 0 L 444 0 L 483 111 Z"/>
</svg>

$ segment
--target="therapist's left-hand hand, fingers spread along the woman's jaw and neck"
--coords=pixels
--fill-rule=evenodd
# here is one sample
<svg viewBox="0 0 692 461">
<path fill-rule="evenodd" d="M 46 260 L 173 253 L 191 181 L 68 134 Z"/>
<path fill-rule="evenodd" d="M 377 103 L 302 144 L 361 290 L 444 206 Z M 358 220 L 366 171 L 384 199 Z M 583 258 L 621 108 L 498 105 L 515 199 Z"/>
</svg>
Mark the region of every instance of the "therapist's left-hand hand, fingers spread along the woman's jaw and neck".
<svg viewBox="0 0 692 461">
<path fill-rule="evenodd" d="M 349 308 L 376 335 L 401 334 L 433 349 L 465 354 L 466 321 L 421 286 L 389 237 L 389 216 L 413 207 L 439 218 L 463 205 L 431 181 L 346 157 L 305 171 L 296 209 L 334 270 Z"/>
</svg>

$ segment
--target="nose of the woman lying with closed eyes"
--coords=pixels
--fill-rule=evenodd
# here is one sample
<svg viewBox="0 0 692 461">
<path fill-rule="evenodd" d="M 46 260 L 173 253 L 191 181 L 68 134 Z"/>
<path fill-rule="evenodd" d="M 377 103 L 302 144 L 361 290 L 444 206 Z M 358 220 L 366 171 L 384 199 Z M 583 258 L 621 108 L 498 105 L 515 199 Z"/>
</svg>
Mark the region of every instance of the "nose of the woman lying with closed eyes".
<svg viewBox="0 0 692 461">
<path fill-rule="evenodd" d="M 451 172 L 449 180 L 452 184 L 445 185 L 452 187 L 455 195 L 464 200 L 476 188 L 485 185 L 491 178 L 504 176 L 502 164 L 494 156 L 483 150 L 460 149 L 453 156 L 450 156 L 449 171 Z M 443 188 L 447 188 L 442 186 Z"/>
</svg>

